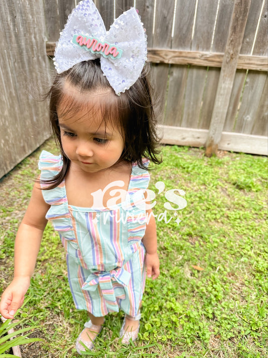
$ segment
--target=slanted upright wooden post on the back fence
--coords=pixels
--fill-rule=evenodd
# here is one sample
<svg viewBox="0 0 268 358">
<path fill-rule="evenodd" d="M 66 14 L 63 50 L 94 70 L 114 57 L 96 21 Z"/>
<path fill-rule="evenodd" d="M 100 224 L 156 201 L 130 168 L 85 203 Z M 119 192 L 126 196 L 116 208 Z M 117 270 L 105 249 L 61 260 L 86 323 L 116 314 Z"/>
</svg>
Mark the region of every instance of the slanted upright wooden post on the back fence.
<svg viewBox="0 0 268 358">
<path fill-rule="evenodd" d="M 235 0 L 232 19 L 224 51 L 219 84 L 206 141 L 206 156 L 217 153 L 232 93 L 238 56 L 240 53 L 251 0 Z"/>
</svg>

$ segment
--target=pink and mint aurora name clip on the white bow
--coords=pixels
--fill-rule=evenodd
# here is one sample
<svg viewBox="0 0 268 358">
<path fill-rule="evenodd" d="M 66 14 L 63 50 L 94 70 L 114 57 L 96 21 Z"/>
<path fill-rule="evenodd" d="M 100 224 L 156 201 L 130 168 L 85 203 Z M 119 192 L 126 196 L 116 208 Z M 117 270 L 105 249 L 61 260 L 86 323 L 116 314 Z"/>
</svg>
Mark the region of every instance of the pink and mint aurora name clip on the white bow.
<svg viewBox="0 0 268 358">
<path fill-rule="evenodd" d="M 83 35 L 74 35 L 72 43 L 77 46 L 81 46 L 85 50 L 91 51 L 92 53 L 100 53 L 104 57 L 110 56 L 111 58 L 120 58 L 123 53 L 120 48 L 110 44 L 109 42 L 103 43 L 95 37 L 90 38 Z"/>
</svg>

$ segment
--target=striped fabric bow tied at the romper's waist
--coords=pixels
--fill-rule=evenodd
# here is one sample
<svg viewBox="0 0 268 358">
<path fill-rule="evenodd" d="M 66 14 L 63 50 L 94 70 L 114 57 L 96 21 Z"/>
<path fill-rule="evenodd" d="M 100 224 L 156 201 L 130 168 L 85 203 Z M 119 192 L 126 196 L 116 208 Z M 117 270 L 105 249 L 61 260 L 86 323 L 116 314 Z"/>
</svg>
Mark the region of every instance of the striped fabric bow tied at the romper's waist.
<svg viewBox="0 0 268 358">
<path fill-rule="evenodd" d="M 100 285 L 107 309 L 119 312 L 112 281 L 117 281 L 126 287 L 129 283 L 130 276 L 131 274 L 122 267 L 111 270 L 110 272 L 93 272 L 82 285 L 82 290 L 96 291 L 98 285 Z"/>
</svg>

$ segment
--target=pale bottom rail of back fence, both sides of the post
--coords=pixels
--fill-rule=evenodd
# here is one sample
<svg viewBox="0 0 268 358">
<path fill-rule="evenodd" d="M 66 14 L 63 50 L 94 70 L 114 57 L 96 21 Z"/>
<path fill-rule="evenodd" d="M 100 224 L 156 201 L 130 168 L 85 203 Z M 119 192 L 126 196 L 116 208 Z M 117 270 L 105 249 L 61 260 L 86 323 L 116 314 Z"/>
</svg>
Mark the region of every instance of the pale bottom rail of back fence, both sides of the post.
<svg viewBox="0 0 268 358">
<path fill-rule="evenodd" d="M 159 125 L 158 132 L 162 136 L 162 143 L 165 144 L 204 147 L 209 130 Z M 268 138 L 264 135 L 222 132 L 218 149 L 266 156 Z"/>
</svg>

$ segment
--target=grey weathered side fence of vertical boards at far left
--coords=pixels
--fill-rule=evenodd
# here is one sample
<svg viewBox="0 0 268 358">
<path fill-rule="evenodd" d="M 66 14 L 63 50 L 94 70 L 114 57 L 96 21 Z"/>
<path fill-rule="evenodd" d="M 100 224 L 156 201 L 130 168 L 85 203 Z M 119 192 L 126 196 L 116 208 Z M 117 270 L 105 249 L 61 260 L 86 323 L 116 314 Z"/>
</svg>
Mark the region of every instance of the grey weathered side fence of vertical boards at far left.
<svg viewBox="0 0 268 358">
<path fill-rule="evenodd" d="M 43 1 L 2 0 L 0 32 L 2 177 L 50 136 L 47 103 L 33 98 L 46 92 L 49 82 L 48 58 L 40 41 L 45 33 Z"/>
</svg>

